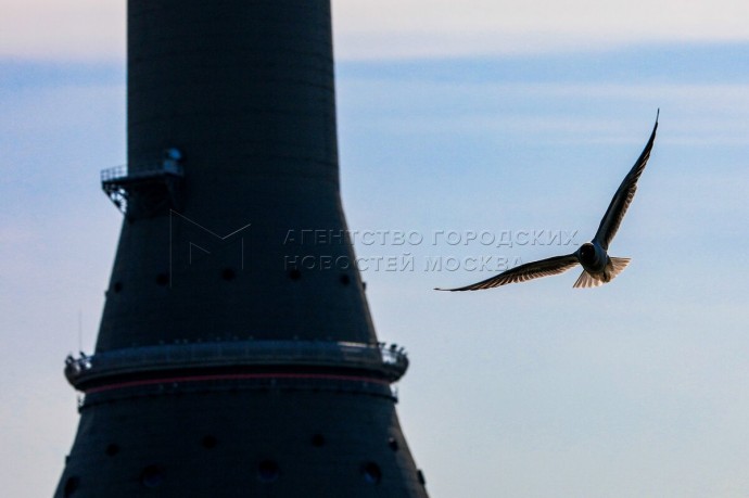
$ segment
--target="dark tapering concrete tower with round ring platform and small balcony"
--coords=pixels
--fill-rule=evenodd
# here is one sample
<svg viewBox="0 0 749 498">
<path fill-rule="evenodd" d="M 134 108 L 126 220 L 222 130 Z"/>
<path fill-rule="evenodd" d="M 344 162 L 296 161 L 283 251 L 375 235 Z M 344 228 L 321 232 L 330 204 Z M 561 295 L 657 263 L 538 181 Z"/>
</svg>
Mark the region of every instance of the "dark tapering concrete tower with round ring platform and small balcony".
<svg viewBox="0 0 749 498">
<path fill-rule="evenodd" d="M 329 0 L 129 0 L 125 214 L 55 497 L 426 497 L 339 193 Z"/>
</svg>

